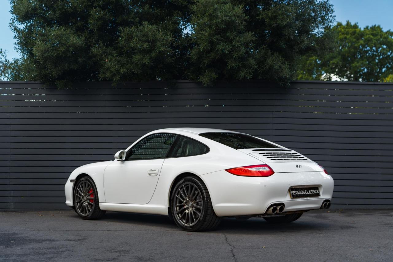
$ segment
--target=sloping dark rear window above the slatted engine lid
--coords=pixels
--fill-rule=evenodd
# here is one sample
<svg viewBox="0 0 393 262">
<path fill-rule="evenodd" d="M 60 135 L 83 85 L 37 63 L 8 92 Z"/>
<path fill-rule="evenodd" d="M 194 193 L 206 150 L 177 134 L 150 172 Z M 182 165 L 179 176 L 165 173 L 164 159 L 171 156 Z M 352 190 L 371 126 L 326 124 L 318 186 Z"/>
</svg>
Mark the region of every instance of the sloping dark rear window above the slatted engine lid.
<svg viewBox="0 0 393 262">
<path fill-rule="evenodd" d="M 261 139 L 246 134 L 215 132 L 203 133 L 199 135 L 235 149 L 280 148 Z"/>
</svg>

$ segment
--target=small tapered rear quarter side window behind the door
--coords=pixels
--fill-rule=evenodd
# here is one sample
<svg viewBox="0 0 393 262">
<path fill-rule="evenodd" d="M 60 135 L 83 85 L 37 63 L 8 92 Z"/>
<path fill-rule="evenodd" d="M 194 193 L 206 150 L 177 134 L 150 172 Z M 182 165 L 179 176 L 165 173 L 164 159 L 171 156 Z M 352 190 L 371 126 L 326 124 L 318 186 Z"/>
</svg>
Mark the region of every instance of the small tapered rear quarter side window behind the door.
<svg viewBox="0 0 393 262">
<path fill-rule="evenodd" d="M 182 156 L 196 156 L 201 154 L 206 154 L 209 152 L 209 148 L 198 141 L 179 136 L 179 140 L 174 145 L 170 158 L 182 157 Z"/>
</svg>

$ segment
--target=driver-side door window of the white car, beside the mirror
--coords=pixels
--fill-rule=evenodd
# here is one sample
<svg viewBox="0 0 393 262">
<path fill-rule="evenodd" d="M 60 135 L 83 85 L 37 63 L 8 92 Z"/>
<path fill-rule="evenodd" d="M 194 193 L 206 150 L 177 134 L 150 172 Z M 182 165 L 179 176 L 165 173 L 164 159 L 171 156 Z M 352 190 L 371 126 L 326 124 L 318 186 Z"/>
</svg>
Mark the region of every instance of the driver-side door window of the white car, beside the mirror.
<svg viewBox="0 0 393 262">
<path fill-rule="evenodd" d="M 174 134 L 153 134 L 145 137 L 130 149 L 127 160 L 165 158 L 175 138 Z"/>
</svg>

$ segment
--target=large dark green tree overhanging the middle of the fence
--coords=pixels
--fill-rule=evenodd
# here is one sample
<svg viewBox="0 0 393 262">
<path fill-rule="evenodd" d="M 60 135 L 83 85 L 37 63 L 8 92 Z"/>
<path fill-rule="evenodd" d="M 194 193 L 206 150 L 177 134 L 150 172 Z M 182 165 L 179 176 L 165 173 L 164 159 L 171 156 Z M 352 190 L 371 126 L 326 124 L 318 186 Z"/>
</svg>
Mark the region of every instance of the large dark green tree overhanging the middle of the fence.
<svg viewBox="0 0 393 262">
<path fill-rule="evenodd" d="M 328 0 L 11 0 L 12 80 L 264 79 L 296 76 L 327 50 Z"/>
</svg>

